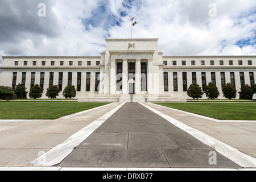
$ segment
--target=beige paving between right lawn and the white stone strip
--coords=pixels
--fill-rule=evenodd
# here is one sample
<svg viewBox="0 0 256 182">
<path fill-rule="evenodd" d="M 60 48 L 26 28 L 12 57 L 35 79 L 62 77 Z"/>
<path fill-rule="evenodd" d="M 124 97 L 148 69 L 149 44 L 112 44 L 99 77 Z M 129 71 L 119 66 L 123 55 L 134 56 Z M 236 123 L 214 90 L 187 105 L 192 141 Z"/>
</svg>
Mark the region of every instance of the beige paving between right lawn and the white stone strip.
<svg viewBox="0 0 256 182">
<path fill-rule="evenodd" d="M 151 103 L 146 105 L 256 158 L 256 122 L 217 122 L 216 119 L 197 117 L 195 114 L 164 106 Z"/>
</svg>

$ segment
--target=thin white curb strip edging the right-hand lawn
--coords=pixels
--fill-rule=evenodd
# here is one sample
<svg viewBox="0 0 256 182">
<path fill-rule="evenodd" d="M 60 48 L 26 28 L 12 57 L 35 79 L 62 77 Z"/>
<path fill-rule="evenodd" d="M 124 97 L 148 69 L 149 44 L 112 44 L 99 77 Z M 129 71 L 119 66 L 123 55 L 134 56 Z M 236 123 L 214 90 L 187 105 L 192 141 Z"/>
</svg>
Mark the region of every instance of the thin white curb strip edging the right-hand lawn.
<svg viewBox="0 0 256 182">
<path fill-rule="evenodd" d="M 214 118 L 206 117 L 204 115 L 189 113 L 187 111 L 183 111 L 183 110 L 174 109 L 174 108 L 167 107 L 167 106 L 162 106 L 162 105 L 154 104 L 154 103 L 151 103 L 151 102 L 150 102 L 150 104 L 153 104 L 153 105 L 156 105 L 156 106 L 160 106 L 160 107 L 164 107 L 164 108 L 170 109 L 170 110 L 179 111 L 180 113 L 190 114 L 190 115 L 193 115 L 193 116 L 196 116 L 196 117 L 199 117 L 199 118 L 208 119 L 208 120 L 214 121 L 214 122 L 221 122 L 221 123 L 222 122 L 224 122 L 224 123 L 256 123 L 256 121 L 246 121 L 246 120 L 219 120 L 219 119 L 214 119 Z"/>
</svg>

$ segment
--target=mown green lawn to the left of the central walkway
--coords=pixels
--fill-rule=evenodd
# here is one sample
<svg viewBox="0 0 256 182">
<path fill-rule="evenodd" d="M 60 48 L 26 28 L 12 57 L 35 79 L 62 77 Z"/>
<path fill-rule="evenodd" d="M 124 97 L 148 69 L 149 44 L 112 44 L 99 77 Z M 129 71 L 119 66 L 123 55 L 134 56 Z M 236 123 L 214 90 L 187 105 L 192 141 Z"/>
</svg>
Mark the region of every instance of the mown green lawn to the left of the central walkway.
<svg viewBox="0 0 256 182">
<path fill-rule="evenodd" d="M 109 103 L 0 102 L 0 119 L 57 119 Z"/>
</svg>

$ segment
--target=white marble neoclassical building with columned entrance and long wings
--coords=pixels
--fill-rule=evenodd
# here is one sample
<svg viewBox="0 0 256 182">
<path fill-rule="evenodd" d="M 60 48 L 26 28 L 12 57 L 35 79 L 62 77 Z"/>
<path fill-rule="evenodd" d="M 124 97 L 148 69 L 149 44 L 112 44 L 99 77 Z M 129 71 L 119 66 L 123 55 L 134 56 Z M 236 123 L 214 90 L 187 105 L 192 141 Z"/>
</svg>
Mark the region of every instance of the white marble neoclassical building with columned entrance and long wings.
<svg viewBox="0 0 256 182">
<path fill-rule="evenodd" d="M 256 81 L 256 56 L 163 56 L 158 39 L 106 39 L 101 56 L 3 57 L 0 85 L 75 85 L 80 101 L 185 101 L 193 83 L 222 87 Z M 239 94 L 237 94 L 239 98 Z"/>
</svg>

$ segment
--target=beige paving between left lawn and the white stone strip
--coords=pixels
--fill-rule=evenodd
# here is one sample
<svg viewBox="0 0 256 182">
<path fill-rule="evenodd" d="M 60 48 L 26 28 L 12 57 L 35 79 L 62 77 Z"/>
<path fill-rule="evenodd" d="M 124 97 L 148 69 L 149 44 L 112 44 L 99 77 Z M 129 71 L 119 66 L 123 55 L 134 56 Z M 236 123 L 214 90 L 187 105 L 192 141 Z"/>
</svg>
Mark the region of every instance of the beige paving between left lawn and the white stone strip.
<svg viewBox="0 0 256 182">
<path fill-rule="evenodd" d="M 0 167 L 30 166 L 40 155 L 118 105 L 106 105 L 67 119 L 0 122 Z"/>
</svg>

